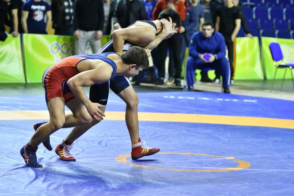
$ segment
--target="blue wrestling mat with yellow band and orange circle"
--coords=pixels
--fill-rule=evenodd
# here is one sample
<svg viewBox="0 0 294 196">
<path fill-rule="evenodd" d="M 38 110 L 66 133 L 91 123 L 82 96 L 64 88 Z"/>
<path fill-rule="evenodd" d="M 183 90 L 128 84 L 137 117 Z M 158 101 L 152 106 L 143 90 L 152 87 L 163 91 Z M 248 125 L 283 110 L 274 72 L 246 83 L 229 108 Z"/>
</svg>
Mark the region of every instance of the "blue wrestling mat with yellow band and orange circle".
<svg viewBox="0 0 294 196">
<path fill-rule="evenodd" d="M 294 101 L 207 92 L 139 93 L 140 137 L 160 152 L 139 160 L 111 94 L 106 118 L 73 143 L 76 162 L 54 148 L 28 168 L 20 149 L 47 106 L 44 96 L 0 97 L 0 195 L 293 196 Z"/>
</svg>

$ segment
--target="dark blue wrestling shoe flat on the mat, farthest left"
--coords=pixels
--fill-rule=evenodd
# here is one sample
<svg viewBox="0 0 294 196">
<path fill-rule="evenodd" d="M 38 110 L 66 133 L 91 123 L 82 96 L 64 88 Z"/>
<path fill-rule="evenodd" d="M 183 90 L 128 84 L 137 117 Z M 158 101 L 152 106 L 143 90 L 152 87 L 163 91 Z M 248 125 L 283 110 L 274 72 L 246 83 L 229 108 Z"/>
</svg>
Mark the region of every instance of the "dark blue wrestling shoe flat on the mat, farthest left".
<svg viewBox="0 0 294 196">
<path fill-rule="evenodd" d="M 37 162 L 36 151 L 38 148 L 28 147 L 27 144 L 22 147 L 21 155 L 25 160 L 25 165 L 31 168 L 43 168 L 41 164 Z"/>
</svg>

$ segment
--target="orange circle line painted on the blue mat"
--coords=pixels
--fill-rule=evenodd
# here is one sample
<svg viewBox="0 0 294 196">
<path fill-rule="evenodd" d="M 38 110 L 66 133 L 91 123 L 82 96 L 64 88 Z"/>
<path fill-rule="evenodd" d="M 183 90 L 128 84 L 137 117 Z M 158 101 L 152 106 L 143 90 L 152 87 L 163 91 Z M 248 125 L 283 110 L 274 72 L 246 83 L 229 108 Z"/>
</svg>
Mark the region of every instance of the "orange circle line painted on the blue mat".
<svg viewBox="0 0 294 196">
<path fill-rule="evenodd" d="M 119 155 L 119 156 L 115 157 L 115 160 L 119 163 L 124 164 L 124 165 L 130 165 L 130 166 L 138 167 L 138 168 L 153 169 L 153 170 L 179 171 L 179 172 L 231 172 L 231 171 L 238 171 L 238 170 L 242 170 L 245 168 L 249 168 L 251 166 L 251 164 L 249 162 L 241 160 L 241 159 L 236 159 L 235 157 L 219 156 L 219 155 L 212 155 L 212 154 L 196 154 L 196 153 L 187 153 L 187 152 L 159 152 L 157 154 L 182 154 L 182 155 L 222 157 L 222 158 L 226 158 L 231 161 L 235 161 L 235 162 L 239 163 L 239 165 L 235 168 L 225 168 L 225 169 L 218 169 L 218 170 L 184 170 L 184 169 L 172 169 L 172 168 L 157 168 L 157 167 L 143 166 L 143 165 L 138 165 L 135 163 L 130 163 L 126 160 L 128 157 L 131 156 L 130 154 Z"/>
</svg>

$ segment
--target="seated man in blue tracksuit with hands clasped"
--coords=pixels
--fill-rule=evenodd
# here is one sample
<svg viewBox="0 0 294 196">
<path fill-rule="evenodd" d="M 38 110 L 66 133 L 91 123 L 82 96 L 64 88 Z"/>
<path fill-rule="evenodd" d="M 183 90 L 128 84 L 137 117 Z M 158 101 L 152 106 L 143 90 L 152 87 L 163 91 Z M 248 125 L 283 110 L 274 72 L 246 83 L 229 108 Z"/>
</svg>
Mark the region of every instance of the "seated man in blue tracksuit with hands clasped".
<svg viewBox="0 0 294 196">
<path fill-rule="evenodd" d="M 194 91 L 196 69 L 221 70 L 222 92 L 230 93 L 230 66 L 225 58 L 225 42 L 219 32 L 215 32 L 211 22 L 202 25 L 202 31 L 193 34 L 186 61 L 186 88 Z"/>
</svg>

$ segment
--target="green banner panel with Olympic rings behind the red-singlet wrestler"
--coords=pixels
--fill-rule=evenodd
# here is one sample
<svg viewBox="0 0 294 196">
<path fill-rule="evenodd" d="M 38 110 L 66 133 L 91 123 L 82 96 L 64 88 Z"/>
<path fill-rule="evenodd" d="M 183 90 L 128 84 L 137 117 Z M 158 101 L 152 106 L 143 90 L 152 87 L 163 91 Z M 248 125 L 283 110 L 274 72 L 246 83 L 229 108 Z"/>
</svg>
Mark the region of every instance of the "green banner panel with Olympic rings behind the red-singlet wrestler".
<svg viewBox="0 0 294 196">
<path fill-rule="evenodd" d="M 102 36 L 101 46 L 111 36 Z M 62 59 L 74 55 L 74 38 L 40 34 L 24 34 L 25 73 L 27 82 L 41 82 L 44 71 Z"/>
</svg>

